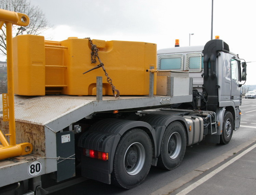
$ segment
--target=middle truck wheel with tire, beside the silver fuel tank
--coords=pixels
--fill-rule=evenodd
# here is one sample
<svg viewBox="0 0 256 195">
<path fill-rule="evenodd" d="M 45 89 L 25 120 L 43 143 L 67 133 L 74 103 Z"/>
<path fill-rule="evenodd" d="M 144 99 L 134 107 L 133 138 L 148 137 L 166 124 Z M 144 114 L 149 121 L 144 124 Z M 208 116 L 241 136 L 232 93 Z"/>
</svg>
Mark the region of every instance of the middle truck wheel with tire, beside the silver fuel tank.
<svg viewBox="0 0 256 195">
<path fill-rule="evenodd" d="M 157 166 L 172 170 L 180 165 L 186 151 L 186 132 L 184 126 L 174 121 L 167 127 L 161 143 L 161 154 Z"/>
</svg>

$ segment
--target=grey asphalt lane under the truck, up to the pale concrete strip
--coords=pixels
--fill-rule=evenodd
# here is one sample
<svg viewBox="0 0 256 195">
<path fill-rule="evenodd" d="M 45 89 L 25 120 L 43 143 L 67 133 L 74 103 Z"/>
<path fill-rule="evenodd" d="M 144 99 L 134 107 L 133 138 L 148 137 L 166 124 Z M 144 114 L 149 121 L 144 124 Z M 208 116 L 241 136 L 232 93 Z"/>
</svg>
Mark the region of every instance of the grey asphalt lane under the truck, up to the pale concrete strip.
<svg viewBox="0 0 256 195">
<path fill-rule="evenodd" d="M 209 161 L 227 153 L 233 148 L 243 144 L 252 137 L 256 137 L 256 99 L 242 99 L 242 110 L 240 128 L 233 132 L 233 136 L 229 144 L 212 144 L 201 141 L 193 147 L 187 147 L 184 159 L 179 167 L 172 171 L 161 170 L 151 167 L 151 170 L 145 181 L 138 187 L 131 190 L 124 190 L 112 185 L 104 184 L 94 180 L 86 180 L 71 187 L 51 193 L 57 194 L 73 194 L 73 195 L 148 195 L 154 194 L 158 189 L 165 187 L 169 183 L 181 178 L 187 173 L 195 170 L 197 167 L 208 163 Z"/>
</svg>

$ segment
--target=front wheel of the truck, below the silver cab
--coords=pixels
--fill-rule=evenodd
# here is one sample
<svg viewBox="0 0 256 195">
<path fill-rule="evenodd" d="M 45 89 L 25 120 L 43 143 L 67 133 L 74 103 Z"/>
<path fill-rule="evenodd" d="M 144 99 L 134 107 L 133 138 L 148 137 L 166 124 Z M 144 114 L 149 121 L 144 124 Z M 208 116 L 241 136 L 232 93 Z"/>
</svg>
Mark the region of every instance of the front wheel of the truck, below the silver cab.
<svg viewBox="0 0 256 195">
<path fill-rule="evenodd" d="M 234 129 L 234 119 L 233 115 L 229 111 L 225 111 L 224 117 L 223 117 L 223 125 L 222 125 L 222 135 L 220 139 L 220 143 L 227 144 L 233 134 Z"/>
</svg>

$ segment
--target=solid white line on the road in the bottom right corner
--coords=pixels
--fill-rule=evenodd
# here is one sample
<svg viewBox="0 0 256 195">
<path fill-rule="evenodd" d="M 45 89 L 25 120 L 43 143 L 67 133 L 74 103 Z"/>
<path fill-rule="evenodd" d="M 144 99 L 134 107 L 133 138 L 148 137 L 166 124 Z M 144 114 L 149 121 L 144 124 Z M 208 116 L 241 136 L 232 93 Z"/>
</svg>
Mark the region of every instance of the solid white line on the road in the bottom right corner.
<svg viewBox="0 0 256 195">
<path fill-rule="evenodd" d="M 199 179 L 198 181 L 196 181 L 195 183 L 189 185 L 187 188 L 185 188 L 184 190 L 182 190 L 181 192 L 177 193 L 176 195 L 186 195 L 187 193 L 191 192 L 192 190 L 194 190 L 196 187 L 198 187 L 199 185 L 201 185 L 202 183 L 204 183 L 205 181 L 207 181 L 208 179 L 212 178 L 214 175 L 216 175 L 217 173 L 219 173 L 220 171 L 222 171 L 223 169 L 225 169 L 227 166 L 229 166 L 230 164 L 232 164 L 233 162 L 235 162 L 236 160 L 238 160 L 239 158 L 241 158 L 242 156 L 244 156 L 245 154 L 247 154 L 248 152 L 250 152 L 252 149 L 254 149 L 256 147 L 256 144 L 254 144 L 253 146 L 251 146 L 250 148 L 244 150 L 244 152 L 242 152 L 241 154 L 237 155 L 236 157 L 232 158 L 231 160 L 229 160 L 228 162 L 226 162 L 225 164 L 221 165 L 220 167 L 218 167 L 217 169 L 215 169 L 214 171 L 212 171 L 211 173 L 209 173 L 208 175 L 205 175 L 203 178 Z"/>
</svg>

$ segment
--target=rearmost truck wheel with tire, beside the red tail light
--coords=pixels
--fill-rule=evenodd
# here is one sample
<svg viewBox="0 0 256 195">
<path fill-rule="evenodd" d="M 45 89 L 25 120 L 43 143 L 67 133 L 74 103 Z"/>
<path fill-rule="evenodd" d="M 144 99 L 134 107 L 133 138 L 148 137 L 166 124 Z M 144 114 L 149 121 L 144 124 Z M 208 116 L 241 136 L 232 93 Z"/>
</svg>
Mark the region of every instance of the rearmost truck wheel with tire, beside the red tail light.
<svg viewBox="0 0 256 195">
<path fill-rule="evenodd" d="M 150 170 L 152 153 L 151 139 L 145 131 L 127 132 L 116 148 L 111 183 L 125 189 L 140 185 Z"/>
</svg>

